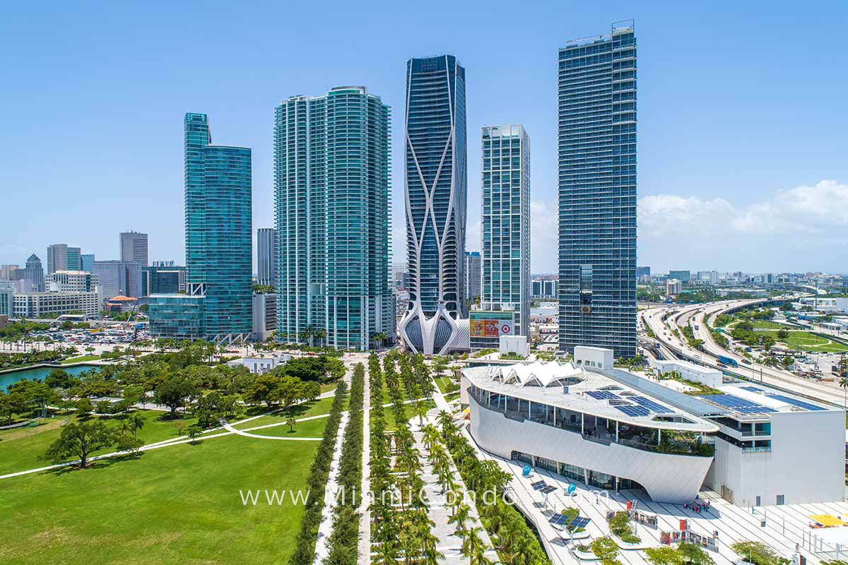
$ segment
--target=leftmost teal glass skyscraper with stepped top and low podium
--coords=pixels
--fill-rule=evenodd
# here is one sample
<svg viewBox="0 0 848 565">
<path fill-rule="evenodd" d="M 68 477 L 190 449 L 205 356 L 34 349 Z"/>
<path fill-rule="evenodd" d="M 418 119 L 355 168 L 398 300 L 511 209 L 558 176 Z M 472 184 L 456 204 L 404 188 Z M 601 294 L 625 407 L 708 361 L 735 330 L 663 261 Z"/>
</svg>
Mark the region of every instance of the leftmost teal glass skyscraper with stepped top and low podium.
<svg viewBox="0 0 848 565">
<path fill-rule="evenodd" d="M 253 330 L 251 152 L 213 145 L 206 114 L 186 114 L 186 294 L 150 296 L 150 331 L 242 341 Z"/>
</svg>

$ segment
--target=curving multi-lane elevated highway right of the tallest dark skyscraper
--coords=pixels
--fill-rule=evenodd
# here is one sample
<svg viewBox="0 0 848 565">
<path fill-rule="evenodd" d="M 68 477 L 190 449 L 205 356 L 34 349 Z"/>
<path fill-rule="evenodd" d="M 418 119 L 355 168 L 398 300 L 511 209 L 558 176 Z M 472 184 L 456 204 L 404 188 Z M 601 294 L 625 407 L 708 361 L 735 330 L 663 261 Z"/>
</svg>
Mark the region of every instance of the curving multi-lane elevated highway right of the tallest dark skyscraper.
<svg viewBox="0 0 848 565">
<path fill-rule="evenodd" d="M 751 380 L 762 380 L 768 385 L 792 391 L 795 394 L 806 396 L 815 400 L 830 402 L 843 406 L 845 402 L 845 391 L 842 391 L 836 383 L 823 383 L 804 379 L 795 374 L 779 368 L 766 367 L 760 363 L 742 363 L 742 356 L 735 352 L 728 352 L 718 346 L 712 340 L 710 331 L 707 330 L 705 319 L 712 326 L 715 318 L 722 312 L 739 307 L 751 306 L 766 299 L 728 300 L 722 302 L 711 302 L 708 304 L 691 305 L 664 305 L 652 307 L 640 312 L 641 324 L 650 327 L 656 335 L 656 341 L 661 344 L 661 353 L 667 356 L 671 352 L 674 357 L 694 361 L 717 368 L 725 373 L 731 373 L 739 377 Z M 663 320 L 665 318 L 665 320 Z M 689 325 L 692 327 L 695 338 L 704 341 L 700 350 L 689 346 L 680 329 Z M 674 333 L 678 330 L 680 336 Z M 718 366 L 717 356 L 729 357 L 739 363 L 739 367 L 722 368 Z"/>
</svg>

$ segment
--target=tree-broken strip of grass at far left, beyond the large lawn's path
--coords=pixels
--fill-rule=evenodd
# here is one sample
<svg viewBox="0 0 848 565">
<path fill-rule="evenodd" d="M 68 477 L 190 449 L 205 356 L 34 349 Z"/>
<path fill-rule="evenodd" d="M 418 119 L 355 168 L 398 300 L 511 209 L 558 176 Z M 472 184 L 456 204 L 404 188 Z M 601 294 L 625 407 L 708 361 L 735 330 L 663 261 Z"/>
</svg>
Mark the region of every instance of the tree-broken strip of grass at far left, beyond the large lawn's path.
<svg viewBox="0 0 848 565">
<path fill-rule="evenodd" d="M 140 410 L 144 416 L 144 427 L 138 430 L 138 439 L 144 443 L 167 440 L 177 437 L 179 429 L 194 424 L 194 418 L 167 418 L 167 413 L 153 410 Z M 75 414 L 63 413 L 55 418 L 46 418 L 46 424 L 34 428 L 3 429 L 0 430 L 0 474 L 16 473 L 31 468 L 46 467 L 50 462 L 41 461 L 38 457 L 47 451 L 47 446 L 59 437 L 59 428 L 65 418 L 75 421 Z M 120 426 L 123 416 L 92 416 L 92 418 L 103 418 L 112 426 Z M 97 451 L 109 453 L 113 448 Z M 2 560 L 0 560 L 2 562 Z"/>
</svg>

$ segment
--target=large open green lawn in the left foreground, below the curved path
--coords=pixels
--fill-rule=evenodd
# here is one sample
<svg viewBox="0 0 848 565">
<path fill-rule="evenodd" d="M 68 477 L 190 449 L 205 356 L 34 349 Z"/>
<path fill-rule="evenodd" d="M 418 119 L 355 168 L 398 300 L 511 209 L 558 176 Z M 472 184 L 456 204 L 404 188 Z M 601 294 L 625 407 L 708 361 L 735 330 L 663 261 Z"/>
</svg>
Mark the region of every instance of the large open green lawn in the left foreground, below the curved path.
<svg viewBox="0 0 848 565">
<path fill-rule="evenodd" d="M 239 490 L 303 488 L 317 446 L 229 435 L 3 479 L 0 562 L 285 563 L 303 507 L 245 506 Z"/>
</svg>

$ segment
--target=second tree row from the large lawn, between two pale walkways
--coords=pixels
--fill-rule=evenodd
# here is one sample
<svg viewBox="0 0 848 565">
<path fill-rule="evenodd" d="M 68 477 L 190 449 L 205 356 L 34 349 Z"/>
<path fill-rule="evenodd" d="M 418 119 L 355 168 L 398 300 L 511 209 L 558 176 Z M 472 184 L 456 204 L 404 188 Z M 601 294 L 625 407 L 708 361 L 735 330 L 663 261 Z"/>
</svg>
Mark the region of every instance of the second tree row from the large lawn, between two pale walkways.
<svg viewBox="0 0 848 565">
<path fill-rule="evenodd" d="M 327 542 L 326 565 L 355 565 L 358 557 L 362 500 L 362 407 L 365 393 L 365 368 L 357 363 L 350 383 L 348 424 L 344 428 L 342 454 L 338 465 L 338 486 L 343 496 L 333 509 L 332 534 Z"/>
</svg>

